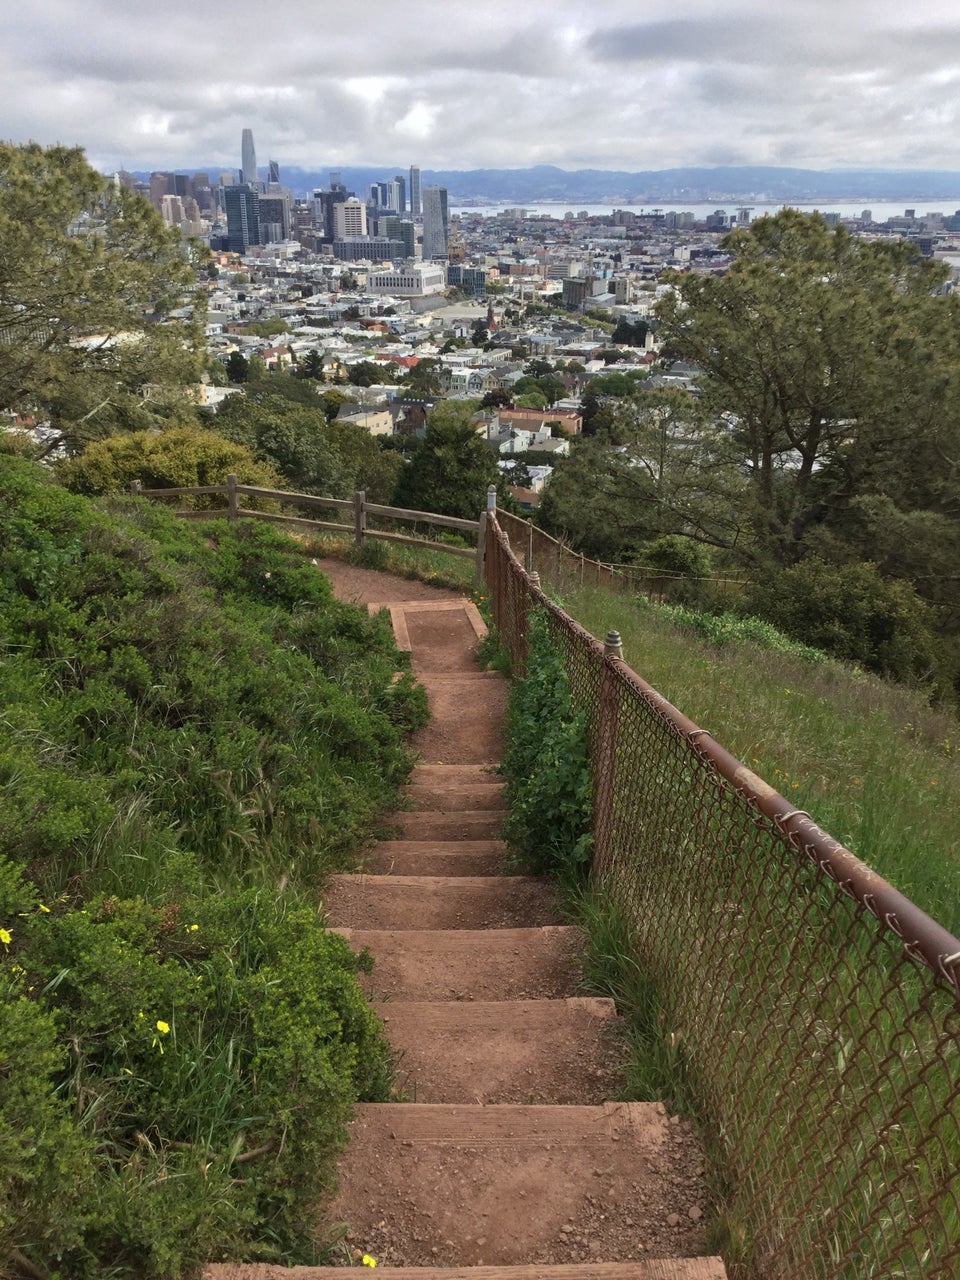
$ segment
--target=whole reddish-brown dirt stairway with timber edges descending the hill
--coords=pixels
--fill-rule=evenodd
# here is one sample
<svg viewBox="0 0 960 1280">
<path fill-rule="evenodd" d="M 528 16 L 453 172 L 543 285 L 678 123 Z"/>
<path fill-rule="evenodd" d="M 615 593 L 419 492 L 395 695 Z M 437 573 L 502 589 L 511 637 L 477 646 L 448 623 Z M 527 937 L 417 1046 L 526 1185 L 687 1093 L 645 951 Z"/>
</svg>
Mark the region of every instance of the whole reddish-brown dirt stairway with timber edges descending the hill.
<svg viewBox="0 0 960 1280">
<path fill-rule="evenodd" d="M 723 1280 L 704 1251 L 703 1152 L 660 1103 L 608 1101 L 622 1048 L 608 1000 L 577 996 L 580 934 L 548 882 L 509 874 L 492 772 L 506 687 L 474 660 L 462 596 L 339 562 L 343 599 L 389 607 L 430 699 L 410 808 L 326 906 L 398 1053 L 398 1097 L 356 1108 L 339 1193 L 343 1265 L 396 1280 Z M 415 1270 L 411 1270 L 415 1268 Z M 334 1275 L 212 1266 L 207 1280 Z"/>
</svg>

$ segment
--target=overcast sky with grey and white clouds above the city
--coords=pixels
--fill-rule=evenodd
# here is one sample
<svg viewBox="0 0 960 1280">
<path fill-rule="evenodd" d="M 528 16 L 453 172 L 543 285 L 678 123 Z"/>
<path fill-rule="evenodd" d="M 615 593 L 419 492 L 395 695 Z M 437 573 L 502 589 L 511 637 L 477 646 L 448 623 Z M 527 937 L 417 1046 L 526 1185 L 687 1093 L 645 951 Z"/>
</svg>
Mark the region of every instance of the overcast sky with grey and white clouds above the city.
<svg viewBox="0 0 960 1280">
<path fill-rule="evenodd" d="M 0 137 L 102 170 L 960 170 L 956 0 L 0 0 Z"/>
</svg>

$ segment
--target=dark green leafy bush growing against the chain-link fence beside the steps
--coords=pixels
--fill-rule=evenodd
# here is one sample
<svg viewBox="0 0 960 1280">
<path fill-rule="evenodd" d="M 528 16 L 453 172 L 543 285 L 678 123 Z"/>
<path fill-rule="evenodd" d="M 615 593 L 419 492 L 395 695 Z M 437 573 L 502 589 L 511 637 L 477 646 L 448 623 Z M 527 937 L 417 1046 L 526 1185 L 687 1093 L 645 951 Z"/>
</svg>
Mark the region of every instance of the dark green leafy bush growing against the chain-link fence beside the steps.
<svg viewBox="0 0 960 1280">
<path fill-rule="evenodd" d="M 527 620 L 526 672 L 511 685 L 507 744 L 504 838 L 536 874 L 585 873 L 593 847 L 586 721 L 571 700 L 543 608 Z"/>
</svg>

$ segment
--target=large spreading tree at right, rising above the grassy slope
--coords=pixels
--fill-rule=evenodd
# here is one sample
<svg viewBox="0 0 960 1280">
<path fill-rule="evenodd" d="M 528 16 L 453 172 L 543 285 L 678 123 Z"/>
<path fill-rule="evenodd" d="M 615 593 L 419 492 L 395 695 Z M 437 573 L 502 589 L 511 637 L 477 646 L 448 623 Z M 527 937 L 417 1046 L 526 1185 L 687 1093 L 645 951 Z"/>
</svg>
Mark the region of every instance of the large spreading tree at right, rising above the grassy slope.
<svg viewBox="0 0 960 1280">
<path fill-rule="evenodd" d="M 904 451 L 931 443 L 956 398 L 960 310 L 942 264 L 782 210 L 724 241 L 723 276 L 673 278 L 671 347 L 703 370 L 750 479 L 758 550 L 794 563 L 813 526 Z M 934 445 L 936 447 L 936 445 Z"/>
</svg>

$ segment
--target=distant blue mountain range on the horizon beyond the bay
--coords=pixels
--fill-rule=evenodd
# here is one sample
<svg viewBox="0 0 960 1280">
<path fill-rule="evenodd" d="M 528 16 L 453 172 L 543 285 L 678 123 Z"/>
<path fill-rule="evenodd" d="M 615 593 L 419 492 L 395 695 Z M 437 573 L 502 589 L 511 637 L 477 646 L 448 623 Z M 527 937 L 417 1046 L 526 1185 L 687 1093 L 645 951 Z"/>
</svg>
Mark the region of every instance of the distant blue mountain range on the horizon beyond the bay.
<svg viewBox="0 0 960 1280">
<path fill-rule="evenodd" d="M 202 168 L 202 166 L 200 166 Z M 221 165 L 206 172 L 219 174 Z M 383 182 L 408 170 L 389 165 L 334 166 L 344 186 L 365 195 L 371 182 Z M 193 173 L 196 170 L 178 170 Z M 148 173 L 137 174 L 150 177 Z M 280 166 L 280 179 L 294 195 L 329 187 L 330 169 Z M 703 201 L 869 201 L 945 200 L 960 202 L 960 173 L 938 169 L 777 169 L 763 165 L 718 169 L 650 169 L 626 173 L 613 169 L 422 169 L 424 187 L 445 187 L 452 204 L 484 201 L 543 204 L 669 204 Z"/>
</svg>

